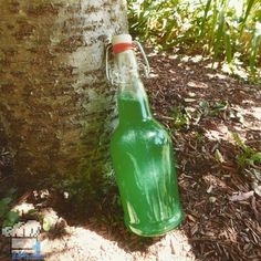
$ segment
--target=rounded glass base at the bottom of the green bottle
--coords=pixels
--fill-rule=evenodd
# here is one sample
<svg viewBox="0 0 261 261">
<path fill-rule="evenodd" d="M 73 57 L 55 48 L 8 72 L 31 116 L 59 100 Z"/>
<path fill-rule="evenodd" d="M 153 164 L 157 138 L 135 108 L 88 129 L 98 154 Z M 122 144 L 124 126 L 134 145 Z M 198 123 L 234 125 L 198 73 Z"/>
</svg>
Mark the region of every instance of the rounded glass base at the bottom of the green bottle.
<svg viewBox="0 0 261 261">
<path fill-rule="evenodd" d="M 179 210 L 173 218 L 160 222 L 132 225 L 125 221 L 125 225 L 129 231 L 140 237 L 159 237 L 177 228 L 182 220 L 184 212 Z"/>
</svg>

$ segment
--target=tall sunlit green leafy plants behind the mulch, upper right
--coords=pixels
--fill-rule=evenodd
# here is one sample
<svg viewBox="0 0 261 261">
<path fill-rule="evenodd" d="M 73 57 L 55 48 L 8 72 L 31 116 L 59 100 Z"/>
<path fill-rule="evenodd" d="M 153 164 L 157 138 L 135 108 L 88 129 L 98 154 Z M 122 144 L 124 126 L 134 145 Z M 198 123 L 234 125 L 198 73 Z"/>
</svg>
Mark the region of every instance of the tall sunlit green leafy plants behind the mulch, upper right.
<svg viewBox="0 0 261 261">
<path fill-rule="evenodd" d="M 129 0 L 130 31 L 161 50 L 201 53 L 241 63 L 255 76 L 261 63 L 260 0 Z"/>
</svg>

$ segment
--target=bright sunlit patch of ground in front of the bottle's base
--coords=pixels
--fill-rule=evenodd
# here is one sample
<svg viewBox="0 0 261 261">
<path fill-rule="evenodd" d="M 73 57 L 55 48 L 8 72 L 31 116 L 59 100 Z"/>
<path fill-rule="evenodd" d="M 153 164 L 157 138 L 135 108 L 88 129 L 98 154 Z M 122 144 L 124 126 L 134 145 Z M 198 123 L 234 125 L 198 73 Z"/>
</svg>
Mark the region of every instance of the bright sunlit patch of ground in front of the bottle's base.
<svg viewBox="0 0 261 261">
<path fill-rule="evenodd" d="M 118 242 L 109 240 L 104 231 L 70 226 L 65 231 L 66 234 L 62 238 L 45 238 L 41 241 L 42 252 L 48 260 L 195 260 L 191 246 L 182 230 L 169 232 L 140 251 L 126 251 Z"/>
</svg>

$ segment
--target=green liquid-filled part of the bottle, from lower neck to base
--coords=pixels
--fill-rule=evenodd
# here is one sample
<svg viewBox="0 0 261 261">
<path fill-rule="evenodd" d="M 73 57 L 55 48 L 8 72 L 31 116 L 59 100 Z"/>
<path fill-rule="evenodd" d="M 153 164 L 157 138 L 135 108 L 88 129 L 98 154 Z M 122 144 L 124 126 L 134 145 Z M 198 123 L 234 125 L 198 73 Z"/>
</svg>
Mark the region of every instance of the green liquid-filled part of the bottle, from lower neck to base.
<svg viewBox="0 0 261 261">
<path fill-rule="evenodd" d="M 170 137 L 153 117 L 135 121 L 143 109 L 135 97 L 119 94 L 118 108 L 132 118 L 119 118 L 111 142 L 125 225 L 139 236 L 164 234 L 182 219 Z"/>
</svg>

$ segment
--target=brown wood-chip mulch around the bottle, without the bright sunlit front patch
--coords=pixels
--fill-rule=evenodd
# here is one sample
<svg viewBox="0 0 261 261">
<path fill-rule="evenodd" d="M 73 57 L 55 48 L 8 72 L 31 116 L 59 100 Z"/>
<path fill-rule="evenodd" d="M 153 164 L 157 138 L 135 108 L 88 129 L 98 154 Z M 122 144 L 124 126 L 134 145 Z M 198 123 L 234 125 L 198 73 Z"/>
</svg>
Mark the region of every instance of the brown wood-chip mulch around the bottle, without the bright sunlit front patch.
<svg viewBox="0 0 261 261">
<path fill-rule="evenodd" d="M 233 138 L 238 134 L 247 146 L 261 150 L 261 88 L 209 69 L 207 61 L 187 60 L 152 53 L 153 72 L 145 81 L 152 111 L 175 145 L 186 213 L 179 230 L 197 260 L 261 260 L 261 197 L 253 189 L 253 184 L 260 186 L 261 166 L 240 167 L 242 148 Z M 8 152 L 0 150 L 0 171 L 8 159 Z M 115 190 L 111 192 L 93 211 L 88 229 L 146 260 L 160 239 L 127 232 Z M 60 213 L 70 225 L 86 222 L 66 206 Z"/>
</svg>

